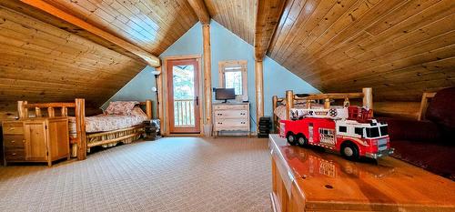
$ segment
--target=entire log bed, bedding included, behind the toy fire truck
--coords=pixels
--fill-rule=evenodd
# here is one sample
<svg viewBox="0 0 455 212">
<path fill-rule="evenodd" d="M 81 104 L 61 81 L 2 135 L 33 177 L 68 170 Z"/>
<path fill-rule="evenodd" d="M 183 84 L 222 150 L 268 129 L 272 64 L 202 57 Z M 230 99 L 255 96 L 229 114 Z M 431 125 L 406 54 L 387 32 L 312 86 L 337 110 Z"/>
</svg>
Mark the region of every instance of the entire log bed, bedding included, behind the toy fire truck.
<svg viewBox="0 0 455 212">
<path fill-rule="evenodd" d="M 351 100 L 361 99 L 362 106 L 373 108 L 373 94 L 371 87 L 364 87 L 359 93 L 331 93 L 315 95 L 295 95 L 292 90 L 286 91 L 286 96 L 272 97 L 273 125 L 278 131 L 279 120 L 288 120 L 291 108 L 329 109 L 349 106 Z M 340 103 L 339 106 L 334 103 Z"/>
</svg>

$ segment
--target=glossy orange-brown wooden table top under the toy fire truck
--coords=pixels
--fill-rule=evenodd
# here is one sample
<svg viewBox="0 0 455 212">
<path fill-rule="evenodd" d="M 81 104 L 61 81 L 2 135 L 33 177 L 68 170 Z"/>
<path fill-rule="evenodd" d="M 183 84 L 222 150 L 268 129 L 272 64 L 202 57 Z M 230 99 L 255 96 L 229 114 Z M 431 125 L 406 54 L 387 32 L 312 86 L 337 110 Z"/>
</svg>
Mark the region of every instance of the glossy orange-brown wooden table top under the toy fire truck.
<svg viewBox="0 0 455 212">
<path fill-rule="evenodd" d="M 280 175 L 298 187 L 308 209 L 455 211 L 455 182 L 391 156 L 351 162 L 288 146 L 278 135 L 269 146 Z"/>
</svg>

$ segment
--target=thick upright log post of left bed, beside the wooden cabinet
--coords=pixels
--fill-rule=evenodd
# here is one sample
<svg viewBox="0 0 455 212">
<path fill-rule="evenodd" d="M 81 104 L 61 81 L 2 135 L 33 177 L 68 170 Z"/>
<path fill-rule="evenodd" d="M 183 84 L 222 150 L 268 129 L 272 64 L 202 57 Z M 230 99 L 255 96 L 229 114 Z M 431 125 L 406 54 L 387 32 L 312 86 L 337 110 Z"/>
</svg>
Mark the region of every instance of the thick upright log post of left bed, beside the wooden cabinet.
<svg viewBox="0 0 455 212">
<path fill-rule="evenodd" d="M 86 101 L 76 98 L 77 160 L 86 159 Z"/>
</svg>

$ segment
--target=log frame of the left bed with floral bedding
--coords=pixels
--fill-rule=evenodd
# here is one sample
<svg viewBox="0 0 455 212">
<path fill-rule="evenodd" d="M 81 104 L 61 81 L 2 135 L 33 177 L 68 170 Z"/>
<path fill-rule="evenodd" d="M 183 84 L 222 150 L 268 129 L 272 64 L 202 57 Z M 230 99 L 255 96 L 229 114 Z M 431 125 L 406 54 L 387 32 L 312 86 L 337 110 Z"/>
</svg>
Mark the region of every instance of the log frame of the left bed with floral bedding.
<svg viewBox="0 0 455 212">
<path fill-rule="evenodd" d="M 139 105 L 146 106 L 147 118 L 152 118 L 152 101 L 146 100 Z M 17 112 L 19 119 L 29 117 L 41 117 L 41 109 L 46 108 L 47 116 L 56 116 L 56 108 L 60 109 L 60 116 L 68 116 L 68 108 L 75 109 L 76 116 L 76 137 L 70 138 L 72 156 L 78 160 L 86 159 L 86 153 L 93 146 L 103 146 L 117 142 L 130 143 L 138 139 L 144 133 L 144 126 L 137 125 L 117 129 L 107 132 L 86 133 L 86 103 L 84 98 L 76 98 L 75 102 L 69 103 L 35 103 L 29 104 L 27 101 L 17 102 Z M 35 116 L 29 116 L 29 110 L 35 110 Z"/>
</svg>

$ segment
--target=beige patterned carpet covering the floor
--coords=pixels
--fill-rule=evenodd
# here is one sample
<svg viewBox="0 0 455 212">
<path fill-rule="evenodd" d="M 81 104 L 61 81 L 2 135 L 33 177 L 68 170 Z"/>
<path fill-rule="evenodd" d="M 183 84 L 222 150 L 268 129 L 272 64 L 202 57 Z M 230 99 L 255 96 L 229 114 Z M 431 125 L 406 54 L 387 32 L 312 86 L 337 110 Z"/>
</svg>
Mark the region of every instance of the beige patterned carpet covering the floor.
<svg viewBox="0 0 455 212">
<path fill-rule="evenodd" d="M 169 137 L 0 167 L 0 211 L 271 211 L 267 139 Z"/>
</svg>

